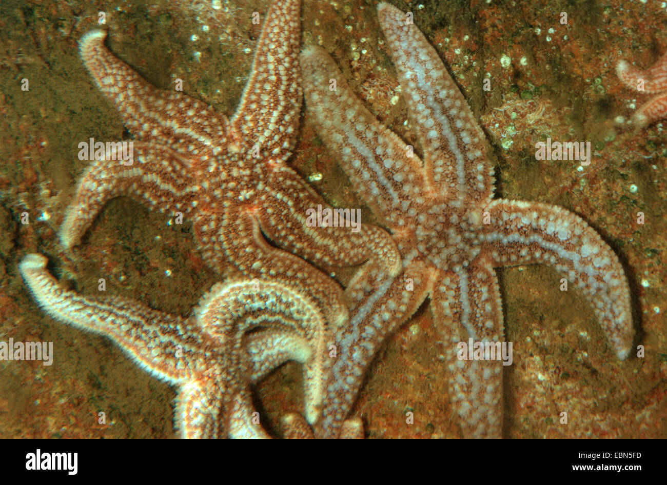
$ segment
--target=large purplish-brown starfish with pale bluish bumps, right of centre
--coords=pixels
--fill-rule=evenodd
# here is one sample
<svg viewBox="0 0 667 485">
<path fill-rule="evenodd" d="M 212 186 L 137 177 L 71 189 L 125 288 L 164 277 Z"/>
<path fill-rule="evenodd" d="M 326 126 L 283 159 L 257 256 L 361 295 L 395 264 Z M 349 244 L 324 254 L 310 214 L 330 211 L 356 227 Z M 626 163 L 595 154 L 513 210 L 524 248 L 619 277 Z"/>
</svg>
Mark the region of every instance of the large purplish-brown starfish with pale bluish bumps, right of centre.
<svg viewBox="0 0 667 485">
<path fill-rule="evenodd" d="M 354 403 L 378 344 L 364 332 L 382 321 L 387 334 L 430 296 L 464 436 L 500 436 L 501 362 L 456 358 L 456 344 L 470 337 L 504 339 L 494 267 L 556 268 L 586 294 L 619 358 L 628 354 L 633 335 L 628 283 L 614 252 L 580 217 L 546 204 L 492 199 L 484 133 L 438 53 L 416 25 L 406 25 L 402 11 L 380 3 L 378 17 L 423 161 L 362 105 L 322 49 L 307 49 L 300 59 L 307 109 L 320 136 L 340 156 L 354 189 L 385 217 L 404 258 L 402 276 L 348 288 L 357 304 L 347 333 L 336 340 L 356 326 L 352 352 L 360 355 L 346 368 L 334 365 L 330 380 L 338 384 L 325 397 L 321 433 L 335 435 Z M 336 91 L 329 90 L 332 78 Z"/>
</svg>

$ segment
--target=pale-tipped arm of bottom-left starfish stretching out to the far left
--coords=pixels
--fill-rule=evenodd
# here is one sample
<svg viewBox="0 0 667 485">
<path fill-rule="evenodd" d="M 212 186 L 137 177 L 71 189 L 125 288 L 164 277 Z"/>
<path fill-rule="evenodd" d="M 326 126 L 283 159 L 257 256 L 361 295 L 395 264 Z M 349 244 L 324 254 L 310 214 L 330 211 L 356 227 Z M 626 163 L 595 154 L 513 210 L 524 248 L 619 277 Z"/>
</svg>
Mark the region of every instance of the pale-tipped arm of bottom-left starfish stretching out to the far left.
<svg viewBox="0 0 667 485">
<path fill-rule="evenodd" d="M 201 345 L 193 320 L 126 298 L 92 298 L 63 290 L 46 264 L 45 256 L 28 254 L 19 270 L 39 306 L 53 318 L 111 338 L 156 378 L 177 384 L 193 374 L 195 359 L 191 357 Z M 178 358 L 179 350 L 182 358 Z"/>
</svg>

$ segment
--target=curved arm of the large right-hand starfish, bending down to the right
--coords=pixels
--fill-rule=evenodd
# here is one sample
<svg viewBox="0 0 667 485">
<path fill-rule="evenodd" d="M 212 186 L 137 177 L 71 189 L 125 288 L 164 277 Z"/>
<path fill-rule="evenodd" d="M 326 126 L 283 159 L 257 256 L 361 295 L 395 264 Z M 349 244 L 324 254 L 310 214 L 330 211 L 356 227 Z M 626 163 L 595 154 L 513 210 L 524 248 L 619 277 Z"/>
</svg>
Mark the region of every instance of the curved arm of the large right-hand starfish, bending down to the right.
<svg viewBox="0 0 667 485">
<path fill-rule="evenodd" d="M 620 359 L 634 336 L 630 288 L 612 249 L 583 219 L 560 207 L 498 199 L 488 205 L 490 225 L 476 235 L 494 266 L 549 264 L 592 303 Z"/>
</svg>

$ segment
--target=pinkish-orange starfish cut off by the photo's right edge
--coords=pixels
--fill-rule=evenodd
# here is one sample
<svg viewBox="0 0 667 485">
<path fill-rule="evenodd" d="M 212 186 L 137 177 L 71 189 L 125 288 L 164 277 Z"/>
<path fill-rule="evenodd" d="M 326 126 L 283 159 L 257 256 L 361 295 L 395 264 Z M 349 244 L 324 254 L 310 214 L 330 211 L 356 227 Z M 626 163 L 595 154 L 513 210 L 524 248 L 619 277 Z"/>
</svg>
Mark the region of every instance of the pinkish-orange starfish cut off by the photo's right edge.
<svg viewBox="0 0 667 485">
<path fill-rule="evenodd" d="M 634 91 L 657 94 L 632 115 L 638 128 L 667 118 L 667 54 L 660 57 L 650 69 L 644 70 L 633 67 L 628 61 L 618 61 L 616 75 L 624 85 Z"/>
</svg>

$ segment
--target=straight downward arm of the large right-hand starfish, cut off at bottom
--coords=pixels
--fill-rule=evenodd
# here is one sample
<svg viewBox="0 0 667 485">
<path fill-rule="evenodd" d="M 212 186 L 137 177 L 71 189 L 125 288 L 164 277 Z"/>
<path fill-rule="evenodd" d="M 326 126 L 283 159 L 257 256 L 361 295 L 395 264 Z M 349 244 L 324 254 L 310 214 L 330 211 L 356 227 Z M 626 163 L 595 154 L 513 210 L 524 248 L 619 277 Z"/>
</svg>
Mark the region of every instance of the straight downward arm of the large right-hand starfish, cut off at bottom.
<svg viewBox="0 0 667 485">
<path fill-rule="evenodd" d="M 431 295 L 434 322 L 443 330 L 444 355 L 450 370 L 450 395 L 462 422 L 464 438 L 500 438 L 502 368 L 500 360 L 460 360 L 469 339 L 498 346 L 504 340 L 498 279 L 490 261 L 441 270 Z M 496 348 L 494 348 L 494 352 Z"/>
</svg>

